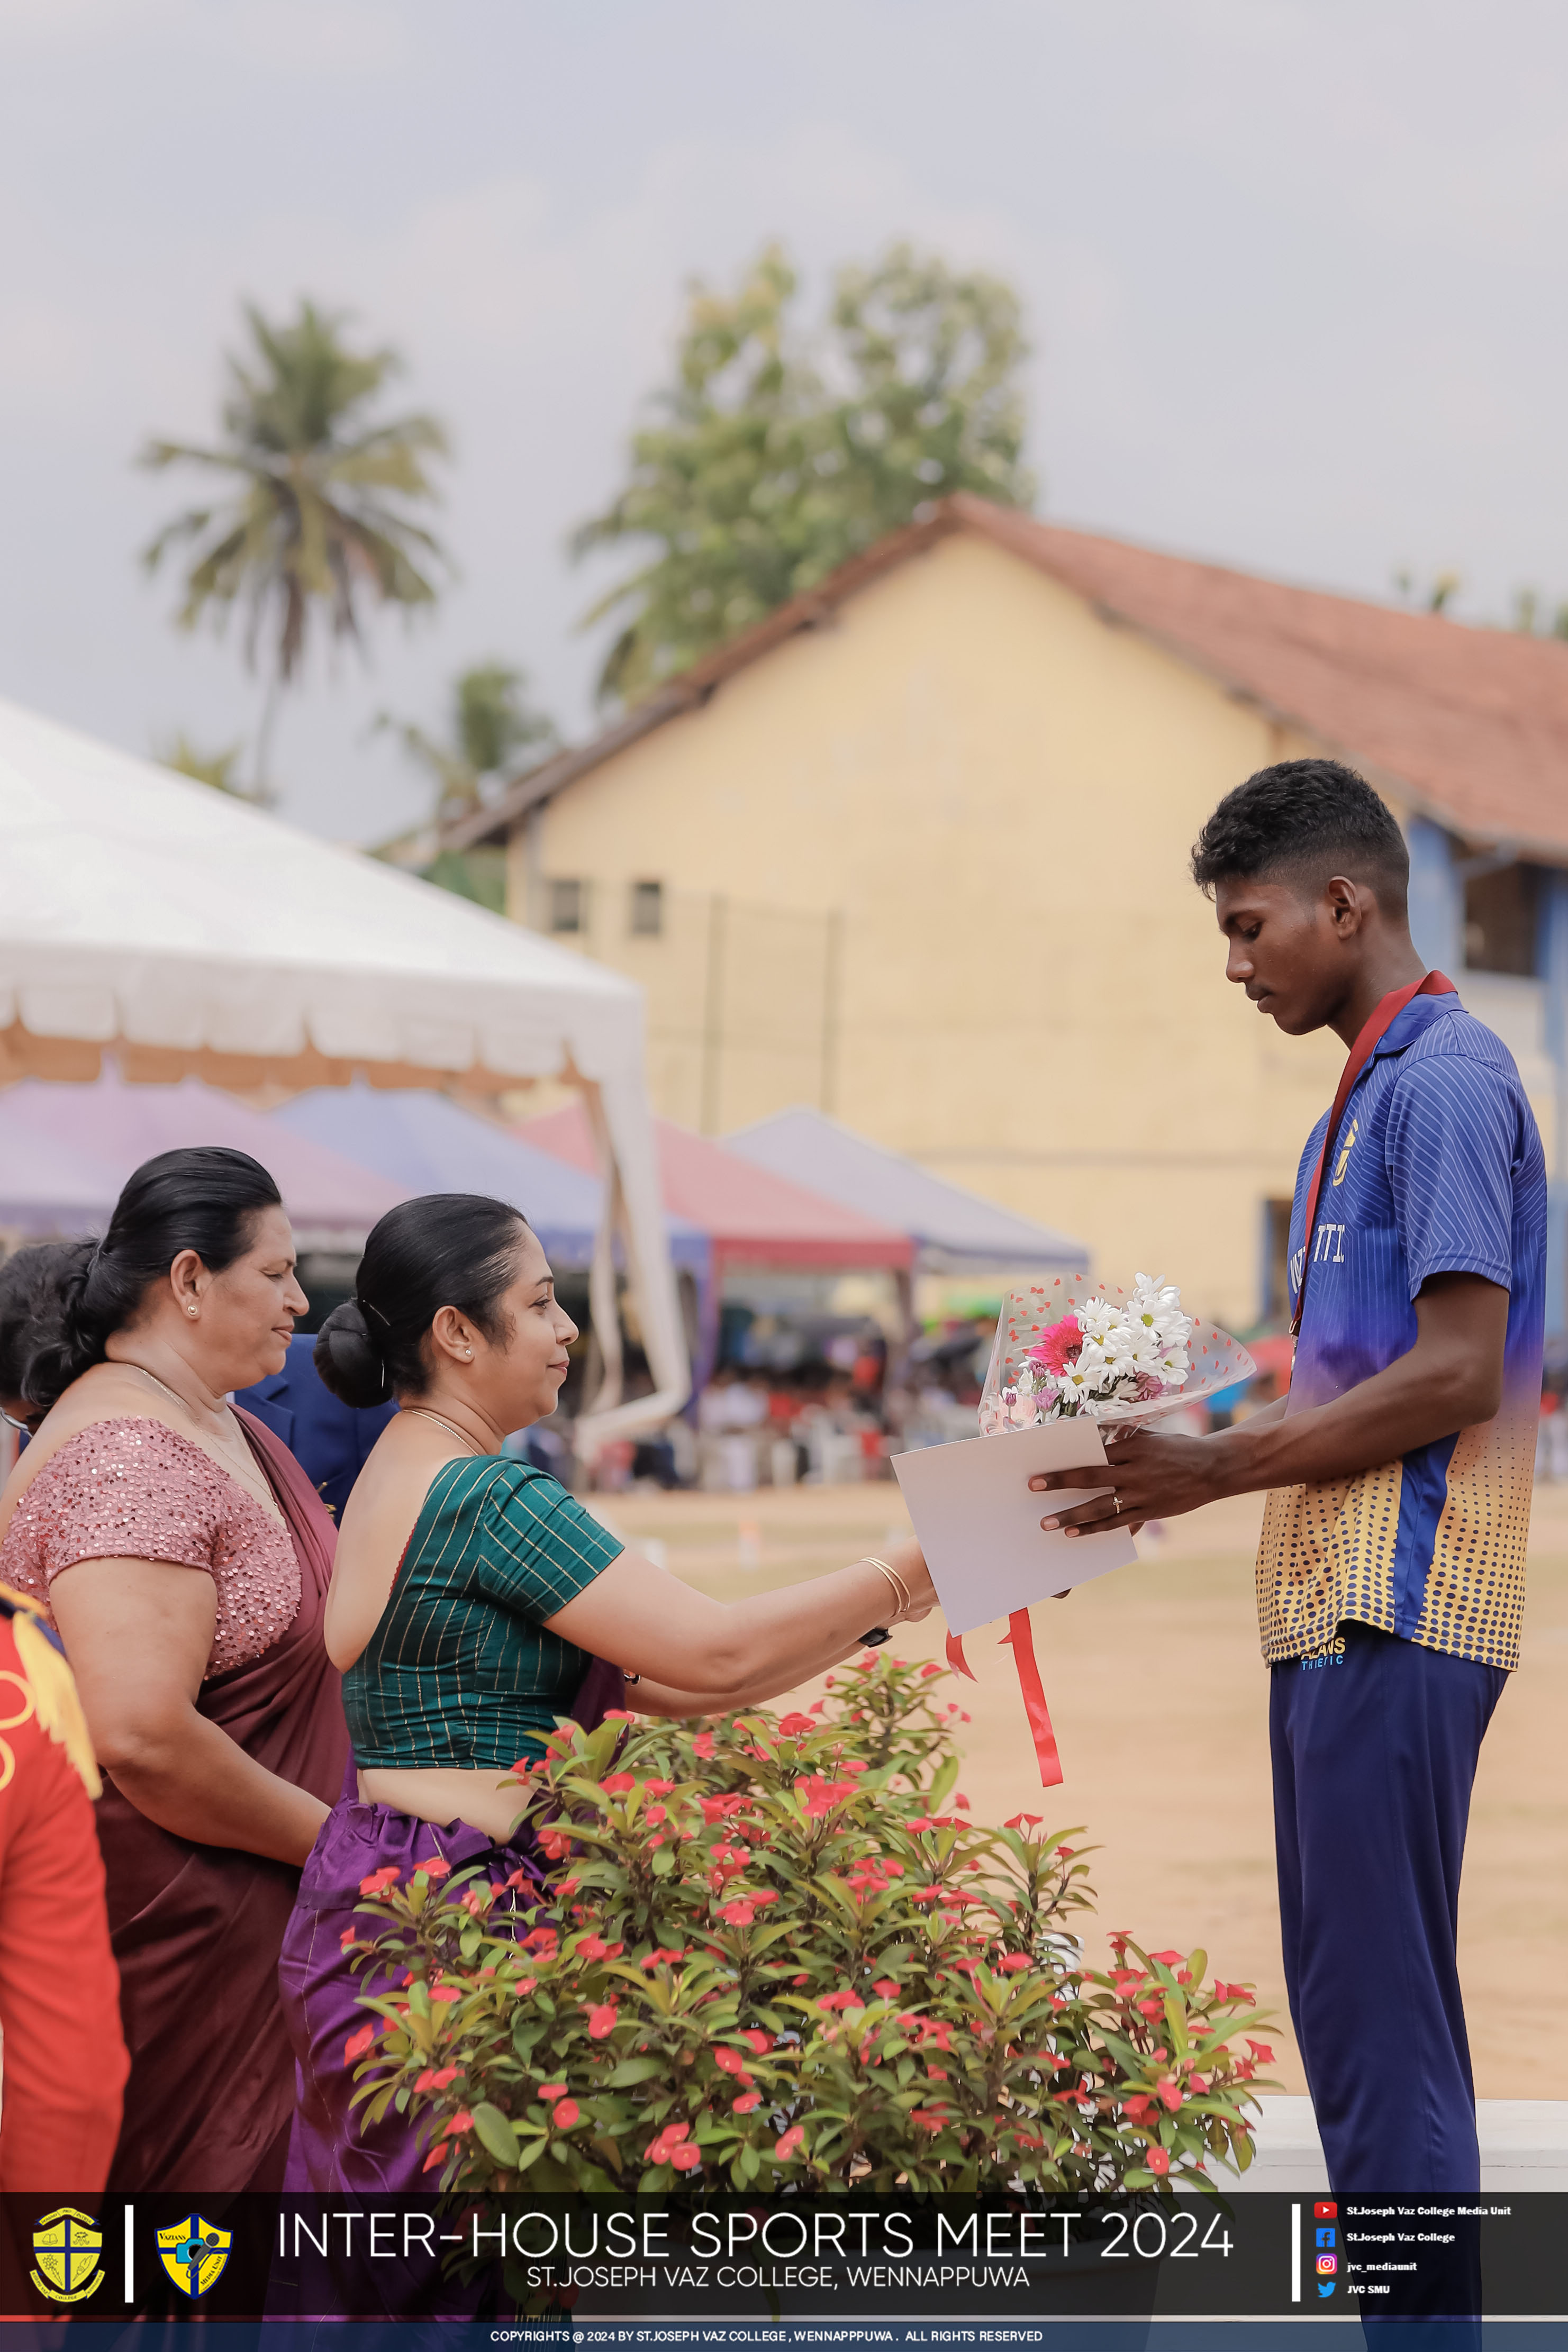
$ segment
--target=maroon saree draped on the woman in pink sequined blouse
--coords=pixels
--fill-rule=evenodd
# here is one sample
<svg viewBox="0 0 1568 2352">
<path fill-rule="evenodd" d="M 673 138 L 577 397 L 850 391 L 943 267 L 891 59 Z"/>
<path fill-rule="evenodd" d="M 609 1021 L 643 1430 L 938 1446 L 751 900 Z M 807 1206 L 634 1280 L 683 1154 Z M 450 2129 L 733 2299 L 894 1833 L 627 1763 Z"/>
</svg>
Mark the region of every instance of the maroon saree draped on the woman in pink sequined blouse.
<svg viewBox="0 0 1568 2352">
<path fill-rule="evenodd" d="M 343 1696 L 322 1642 L 334 1526 L 294 1456 L 235 1409 L 299 1557 L 299 1613 L 261 1658 L 202 1684 L 197 1710 L 266 1771 L 334 1804 Z M 160 1830 L 103 1785 L 99 1844 L 132 2053 L 110 2190 L 181 2197 L 282 2187 L 294 2051 L 277 1952 L 299 1870 Z"/>
</svg>

